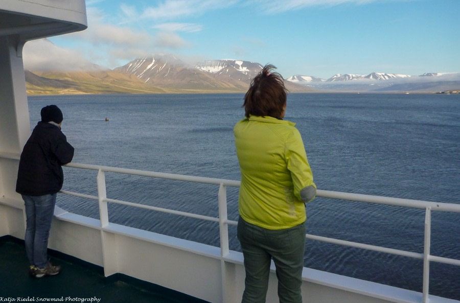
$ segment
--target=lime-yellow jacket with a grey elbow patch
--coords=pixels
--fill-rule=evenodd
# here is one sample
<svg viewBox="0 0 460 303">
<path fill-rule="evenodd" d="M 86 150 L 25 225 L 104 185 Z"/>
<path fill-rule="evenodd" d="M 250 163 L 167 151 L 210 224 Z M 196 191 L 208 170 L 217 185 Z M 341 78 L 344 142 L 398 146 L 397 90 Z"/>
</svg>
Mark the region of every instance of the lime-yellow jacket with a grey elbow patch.
<svg viewBox="0 0 460 303">
<path fill-rule="evenodd" d="M 307 201 L 302 202 L 301 191 L 310 185 L 316 191 L 316 185 L 295 123 L 250 116 L 235 125 L 234 134 L 241 169 L 240 216 L 267 229 L 303 223 Z"/>
</svg>

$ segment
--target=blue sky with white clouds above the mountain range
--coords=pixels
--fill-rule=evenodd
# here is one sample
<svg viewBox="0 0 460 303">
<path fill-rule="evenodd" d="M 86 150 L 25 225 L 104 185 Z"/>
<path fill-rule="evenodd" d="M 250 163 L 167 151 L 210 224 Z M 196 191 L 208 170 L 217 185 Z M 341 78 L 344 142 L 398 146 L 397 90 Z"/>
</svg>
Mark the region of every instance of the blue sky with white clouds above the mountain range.
<svg viewBox="0 0 460 303">
<path fill-rule="evenodd" d="M 86 13 L 84 31 L 27 42 L 25 68 L 172 54 L 270 63 L 284 78 L 460 72 L 459 0 L 87 0 Z"/>
</svg>

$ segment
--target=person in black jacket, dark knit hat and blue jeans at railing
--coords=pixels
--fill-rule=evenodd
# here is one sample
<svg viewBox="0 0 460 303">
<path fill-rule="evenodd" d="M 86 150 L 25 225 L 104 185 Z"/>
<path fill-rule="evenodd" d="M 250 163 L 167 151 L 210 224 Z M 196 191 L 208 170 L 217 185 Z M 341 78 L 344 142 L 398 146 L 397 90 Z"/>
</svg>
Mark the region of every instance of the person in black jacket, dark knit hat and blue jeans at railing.
<svg viewBox="0 0 460 303">
<path fill-rule="evenodd" d="M 31 276 L 58 274 L 60 266 L 48 259 L 48 238 L 53 220 L 56 194 L 64 182 L 62 165 L 72 161 L 74 148 L 61 131 L 62 111 L 56 105 L 41 109 L 38 122 L 19 160 L 16 192 L 26 208 L 26 253 Z"/>
</svg>

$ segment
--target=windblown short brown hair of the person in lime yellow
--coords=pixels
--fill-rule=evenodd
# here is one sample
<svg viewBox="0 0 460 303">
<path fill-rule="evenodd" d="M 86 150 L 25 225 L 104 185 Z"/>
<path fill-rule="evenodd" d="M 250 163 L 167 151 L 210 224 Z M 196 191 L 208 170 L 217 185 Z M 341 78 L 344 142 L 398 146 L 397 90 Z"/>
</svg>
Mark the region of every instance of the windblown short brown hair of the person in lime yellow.
<svg viewBox="0 0 460 303">
<path fill-rule="evenodd" d="M 286 106 L 287 89 L 284 86 L 283 77 L 272 72 L 277 68 L 267 64 L 262 71 L 251 80 L 246 95 L 244 95 L 243 107 L 246 118 L 250 115 L 270 116 L 279 119 Z"/>
</svg>

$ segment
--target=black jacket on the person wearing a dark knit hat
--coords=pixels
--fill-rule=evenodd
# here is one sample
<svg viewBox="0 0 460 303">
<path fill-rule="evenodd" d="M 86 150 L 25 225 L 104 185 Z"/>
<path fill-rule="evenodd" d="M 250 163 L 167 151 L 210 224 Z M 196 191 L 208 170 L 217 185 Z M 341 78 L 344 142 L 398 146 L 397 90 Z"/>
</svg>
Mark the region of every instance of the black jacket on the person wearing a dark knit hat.
<svg viewBox="0 0 460 303">
<path fill-rule="evenodd" d="M 73 157 L 74 147 L 67 143 L 61 129 L 38 122 L 21 153 L 16 192 L 28 196 L 59 192 L 64 182 L 61 166 Z"/>
</svg>

